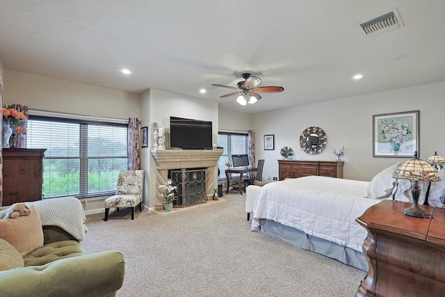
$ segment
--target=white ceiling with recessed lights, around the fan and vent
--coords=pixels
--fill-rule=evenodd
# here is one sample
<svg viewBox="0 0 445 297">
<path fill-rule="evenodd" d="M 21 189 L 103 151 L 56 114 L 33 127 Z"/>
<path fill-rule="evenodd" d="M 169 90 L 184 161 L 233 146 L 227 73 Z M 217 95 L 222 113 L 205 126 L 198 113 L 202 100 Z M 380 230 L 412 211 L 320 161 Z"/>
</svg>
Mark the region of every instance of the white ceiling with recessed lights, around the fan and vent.
<svg viewBox="0 0 445 297">
<path fill-rule="evenodd" d="M 358 26 L 393 8 L 402 28 L 367 36 Z M 236 86 L 250 72 L 259 86 L 284 87 L 247 106 L 258 113 L 444 81 L 444 15 L 444 0 L 0 0 L 0 60 L 234 111 L 236 96 L 219 98 L 233 90 L 211 84 Z M 354 81 L 357 73 L 364 77 Z"/>
</svg>

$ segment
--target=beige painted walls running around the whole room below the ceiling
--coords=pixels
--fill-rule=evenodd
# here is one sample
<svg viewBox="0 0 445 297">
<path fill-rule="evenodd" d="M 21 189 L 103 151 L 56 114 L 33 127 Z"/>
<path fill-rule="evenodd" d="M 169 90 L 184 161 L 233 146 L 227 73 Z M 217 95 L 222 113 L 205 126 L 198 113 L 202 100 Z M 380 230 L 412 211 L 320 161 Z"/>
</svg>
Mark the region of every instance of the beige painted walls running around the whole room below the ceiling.
<svg viewBox="0 0 445 297">
<path fill-rule="evenodd" d="M 383 168 L 406 160 L 373 158 L 372 115 L 381 113 L 419 110 L 421 158 L 426 159 L 435 150 L 445 154 L 445 138 L 442 137 L 445 81 L 255 115 L 218 110 L 217 102 L 161 90 L 147 90 L 138 95 L 14 70 L 4 70 L 3 83 L 3 105 L 19 103 L 31 109 L 63 113 L 140 118 L 141 127 L 149 127 L 150 134 L 149 148 L 142 149 L 140 154 L 141 166 L 147 170 L 147 207 L 153 207 L 156 202 L 156 166 L 150 154 L 153 123 L 157 122 L 169 132 L 170 115 L 213 121 L 213 143 L 218 141 L 218 129 L 254 129 L 256 159 L 266 159 L 264 177 L 278 175 L 281 147 L 293 147 L 294 159 L 333 161 L 332 147 L 344 146 L 345 178 L 371 180 Z M 321 127 L 327 134 L 327 147 L 319 155 L 305 154 L 300 149 L 298 139 L 309 126 Z M 263 150 L 264 134 L 275 134 L 275 150 Z M 102 209 L 102 199 L 88 200 L 87 213 Z"/>
</svg>

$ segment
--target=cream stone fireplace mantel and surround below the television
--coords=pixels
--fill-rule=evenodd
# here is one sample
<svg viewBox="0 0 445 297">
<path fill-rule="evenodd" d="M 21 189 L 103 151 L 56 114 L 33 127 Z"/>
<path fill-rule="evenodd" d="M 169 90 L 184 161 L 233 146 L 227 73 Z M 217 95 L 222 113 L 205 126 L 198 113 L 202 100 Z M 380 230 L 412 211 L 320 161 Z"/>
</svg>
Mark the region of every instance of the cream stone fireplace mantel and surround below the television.
<svg viewBox="0 0 445 297">
<path fill-rule="evenodd" d="M 163 209 L 159 186 L 168 179 L 168 170 L 186 168 L 206 168 L 206 195 L 213 197 L 215 167 L 223 150 L 152 150 L 156 162 L 156 197 L 155 209 Z"/>
</svg>

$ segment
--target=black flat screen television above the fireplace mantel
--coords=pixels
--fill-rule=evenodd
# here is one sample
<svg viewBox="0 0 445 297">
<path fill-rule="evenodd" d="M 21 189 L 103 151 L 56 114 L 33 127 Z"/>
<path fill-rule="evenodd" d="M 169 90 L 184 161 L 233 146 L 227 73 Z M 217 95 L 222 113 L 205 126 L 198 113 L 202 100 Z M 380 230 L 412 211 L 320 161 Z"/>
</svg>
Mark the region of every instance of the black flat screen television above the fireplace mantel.
<svg viewBox="0 0 445 297">
<path fill-rule="evenodd" d="M 170 147 L 184 150 L 212 148 L 212 122 L 170 117 Z"/>
</svg>

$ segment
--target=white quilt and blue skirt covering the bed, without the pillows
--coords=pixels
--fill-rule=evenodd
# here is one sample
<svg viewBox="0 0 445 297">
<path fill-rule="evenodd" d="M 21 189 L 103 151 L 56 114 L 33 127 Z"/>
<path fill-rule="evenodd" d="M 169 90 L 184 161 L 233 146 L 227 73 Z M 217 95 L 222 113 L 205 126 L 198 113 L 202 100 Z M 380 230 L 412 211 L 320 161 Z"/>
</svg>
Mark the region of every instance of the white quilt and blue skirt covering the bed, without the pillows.
<svg viewBox="0 0 445 297">
<path fill-rule="evenodd" d="M 254 203 L 252 231 L 367 271 L 362 252 L 366 230 L 355 218 L 382 199 L 391 199 L 365 198 L 370 184 L 319 176 L 266 184 Z"/>
</svg>

